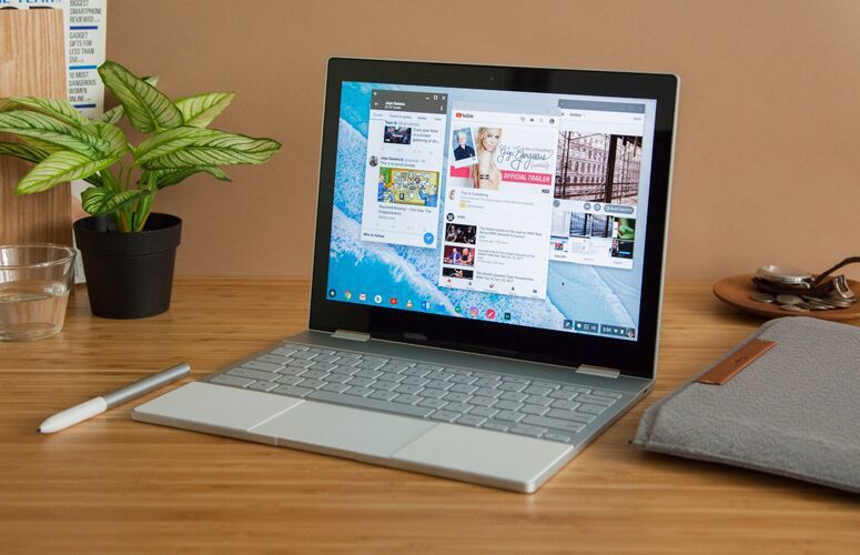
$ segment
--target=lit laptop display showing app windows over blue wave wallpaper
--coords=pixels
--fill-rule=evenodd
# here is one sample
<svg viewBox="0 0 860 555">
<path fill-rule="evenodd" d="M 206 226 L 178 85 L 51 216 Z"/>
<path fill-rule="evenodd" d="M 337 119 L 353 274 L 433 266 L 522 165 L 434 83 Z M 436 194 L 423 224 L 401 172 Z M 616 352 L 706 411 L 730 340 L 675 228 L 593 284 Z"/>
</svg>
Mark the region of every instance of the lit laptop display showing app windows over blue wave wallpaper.
<svg viewBox="0 0 860 555">
<path fill-rule="evenodd" d="M 343 82 L 327 299 L 636 341 L 655 111 Z"/>
</svg>

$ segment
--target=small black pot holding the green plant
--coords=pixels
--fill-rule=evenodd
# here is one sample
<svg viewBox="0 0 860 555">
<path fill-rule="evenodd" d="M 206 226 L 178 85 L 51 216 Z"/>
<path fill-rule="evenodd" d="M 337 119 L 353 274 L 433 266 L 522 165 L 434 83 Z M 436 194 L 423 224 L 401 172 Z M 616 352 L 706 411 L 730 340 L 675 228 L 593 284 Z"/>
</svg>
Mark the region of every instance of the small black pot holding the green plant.
<svg viewBox="0 0 860 555">
<path fill-rule="evenodd" d="M 181 232 L 182 220 L 159 213 L 138 233 L 118 232 L 102 216 L 74 222 L 92 313 L 134 319 L 165 312 Z"/>
</svg>

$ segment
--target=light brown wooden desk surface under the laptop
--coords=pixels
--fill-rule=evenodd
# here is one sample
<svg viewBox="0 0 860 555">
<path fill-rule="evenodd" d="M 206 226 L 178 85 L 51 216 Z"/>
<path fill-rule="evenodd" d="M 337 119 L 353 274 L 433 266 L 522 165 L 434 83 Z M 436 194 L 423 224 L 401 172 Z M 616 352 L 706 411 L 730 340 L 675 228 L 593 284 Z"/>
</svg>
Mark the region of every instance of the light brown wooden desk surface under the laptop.
<svg viewBox="0 0 860 555">
<path fill-rule="evenodd" d="M 169 313 L 111 321 L 79 291 L 59 336 L 0 343 L 0 552 L 860 547 L 857 496 L 627 444 L 646 406 L 760 323 L 698 282 L 667 287 L 656 391 L 530 496 L 135 423 L 138 402 L 34 432 L 144 373 L 201 376 L 297 332 L 306 297 L 302 281 L 179 280 Z"/>
</svg>

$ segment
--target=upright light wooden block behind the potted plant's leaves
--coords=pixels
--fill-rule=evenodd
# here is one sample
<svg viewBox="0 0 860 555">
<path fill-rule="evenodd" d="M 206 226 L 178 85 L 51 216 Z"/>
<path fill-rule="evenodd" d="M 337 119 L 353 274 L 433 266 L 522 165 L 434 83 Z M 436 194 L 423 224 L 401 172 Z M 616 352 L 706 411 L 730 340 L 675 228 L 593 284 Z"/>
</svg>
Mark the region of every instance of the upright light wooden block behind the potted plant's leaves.
<svg viewBox="0 0 860 555">
<path fill-rule="evenodd" d="M 0 10 L 0 98 L 65 98 L 62 11 Z M 0 141 L 14 140 L 0 133 Z M 0 157 L 0 244 L 72 244 L 69 185 L 17 196 L 30 162 Z"/>
</svg>

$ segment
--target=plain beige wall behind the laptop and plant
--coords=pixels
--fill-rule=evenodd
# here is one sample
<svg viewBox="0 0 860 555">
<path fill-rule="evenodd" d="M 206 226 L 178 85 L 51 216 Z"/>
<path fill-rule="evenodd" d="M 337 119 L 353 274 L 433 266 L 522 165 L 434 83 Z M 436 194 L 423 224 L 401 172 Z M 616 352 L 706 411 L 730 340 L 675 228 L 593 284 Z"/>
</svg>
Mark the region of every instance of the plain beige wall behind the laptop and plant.
<svg viewBox="0 0 860 555">
<path fill-rule="evenodd" d="M 178 272 L 306 276 L 331 56 L 681 77 L 670 279 L 860 254 L 860 1 L 112 1 L 109 57 L 171 95 L 235 90 L 219 127 L 264 167 L 165 190 Z M 860 272 L 853 270 L 853 276 Z"/>
</svg>

